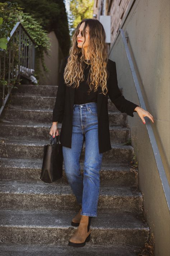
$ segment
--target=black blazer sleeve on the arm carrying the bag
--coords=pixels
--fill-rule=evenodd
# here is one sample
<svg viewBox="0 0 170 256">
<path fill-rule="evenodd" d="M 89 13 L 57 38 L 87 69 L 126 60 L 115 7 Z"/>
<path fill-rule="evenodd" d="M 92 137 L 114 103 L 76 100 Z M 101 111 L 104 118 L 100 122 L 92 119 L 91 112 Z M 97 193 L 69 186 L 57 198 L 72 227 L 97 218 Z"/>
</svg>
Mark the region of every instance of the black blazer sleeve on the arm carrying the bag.
<svg viewBox="0 0 170 256">
<path fill-rule="evenodd" d="M 64 81 L 64 71 L 67 64 L 68 56 L 65 57 L 64 62 L 62 64 L 61 73 L 59 76 L 59 84 L 56 95 L 56 102 L 53 108 L 53 117 L 52 122 L 62 123 L 63 114 L 64 114 L 64 106 L 65 106 L 65 92 L 66 92 L 66 84 Z"/>
</svg>

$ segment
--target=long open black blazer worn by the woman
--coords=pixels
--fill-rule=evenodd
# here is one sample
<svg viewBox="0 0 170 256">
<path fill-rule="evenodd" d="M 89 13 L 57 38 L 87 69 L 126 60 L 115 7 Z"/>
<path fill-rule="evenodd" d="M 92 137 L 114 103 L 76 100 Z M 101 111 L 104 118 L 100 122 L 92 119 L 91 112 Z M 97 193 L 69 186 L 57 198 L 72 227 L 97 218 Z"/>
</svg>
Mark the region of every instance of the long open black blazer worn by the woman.
<svg viewBox="0 0 170 256">
<path fill-rule="evenodd" d="M 55 107 L 53 109 L 53 122 L 62 123 L 60 132 L 60 142 L 62 146 L 71 148 L 72 139 L 72 115 L 74 107 L 74 93 L 75 89 L 65 84 L 63 73 L 67 64 L 67 59 L 62 65 L 61 75 L 59 79 Z M 99 139 L 99 153 L 103 153 L 112 149 L 110 144 L 109 133 L 109 116 L 108 116 L 108 95 L 110 100 L 115 104 L 117 109 L 122 113 L 127 113 L 133 117 L 134 108 L 137 104 L 127 100 L 122 95 L 118 87 L 116 64 L 114 61 L 108 59 L 107 68 L 109 77 L 107 80 L 108 93 L 104 95 L 101 87 L 98 86 L 97 93 L 97 111 L 98 111 L 98 139 Z M 103 139 L 104 138 L 104 139 Z"/>
</svg>

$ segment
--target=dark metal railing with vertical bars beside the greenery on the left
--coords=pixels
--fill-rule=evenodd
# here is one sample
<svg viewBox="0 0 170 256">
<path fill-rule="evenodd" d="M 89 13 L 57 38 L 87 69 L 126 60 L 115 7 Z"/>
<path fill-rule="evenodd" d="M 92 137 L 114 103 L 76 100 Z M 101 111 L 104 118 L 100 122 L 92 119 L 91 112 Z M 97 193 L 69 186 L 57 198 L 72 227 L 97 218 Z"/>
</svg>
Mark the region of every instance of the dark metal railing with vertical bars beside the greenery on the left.
<svg viewBox="0 0 170 256">
<path fill-rule="evenodd" d="M 8 84 L 3 84 L 2 91 L 2 105 L 0 108 L 0 115 L 5 107 L 9 98 L 12 87 L 10 87 L 10 80 L 20 78 L 20 75 L 30 77 L 35 67 L 35 45 L 36 42 L 30 37 L 29 33 L 25 30 L 20 22 L 17 22 L 10 32 L 10 37 L 7 38 L 7 50 L 0 49 L 0 75 L 1 64 L 3 62 L 3 79 L 8 79 Z M 14 63 L 14 44 L 18 49 L 18 63 Z M 5 71 L 5 63 L 8 63 L 8 74 Z M 14 66 L 15 65 L 15 66 Z M 5 96 L 5 86 L 8 86 L 8 93 Z"/>
</svg>

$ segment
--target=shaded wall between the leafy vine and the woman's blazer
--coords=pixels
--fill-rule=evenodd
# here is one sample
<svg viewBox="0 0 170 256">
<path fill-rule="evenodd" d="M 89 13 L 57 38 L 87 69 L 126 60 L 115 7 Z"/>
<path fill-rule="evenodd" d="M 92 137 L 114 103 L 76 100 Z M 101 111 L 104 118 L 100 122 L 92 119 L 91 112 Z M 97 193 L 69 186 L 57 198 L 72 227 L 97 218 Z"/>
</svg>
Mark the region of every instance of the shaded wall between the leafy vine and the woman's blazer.
<svg viewBox="0 0 170 256">
<path fill-rule="evenodd" d="M 39 79 L 39 84 L 41 85 L 57 85 L 58 84 L 58 72 L 60 69 L 61 59 L 63 58 L 63 54 L 61 52 L 60 46 L 58 44 L 57 37 L 55 32 L 52 31 L 48 34 L 51 41 L 51 49 L 49 53 L 51 56 L 47 56 L 44 53 L 44 62 L 46 67 L 49 69 L 49 73 L 45 73 L 42 68 L 42 64 L 40 64 L 40 70 L 42 72 L 42 77 Z"/>
</svg>

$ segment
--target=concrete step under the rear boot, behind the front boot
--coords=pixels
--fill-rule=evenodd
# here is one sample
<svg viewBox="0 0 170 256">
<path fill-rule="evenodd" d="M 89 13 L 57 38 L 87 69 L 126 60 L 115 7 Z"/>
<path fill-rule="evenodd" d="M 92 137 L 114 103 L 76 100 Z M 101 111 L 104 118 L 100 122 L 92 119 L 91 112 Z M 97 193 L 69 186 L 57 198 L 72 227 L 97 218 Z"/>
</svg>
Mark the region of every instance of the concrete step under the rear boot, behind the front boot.
<svg viewBox="0 0 170 256">
<path fill-rule="evenodd" d="M 75 214 L 74 210 L 0 210 L 1 242 L 67 245 L 77 229 L 70 225 Z M 89 246 L 142 247 L 149 235 L 148 225 L 140 216 L 113 211 L 98 212 L 97 217 L 92 217 L 90 228 Z"/>
</svg>

